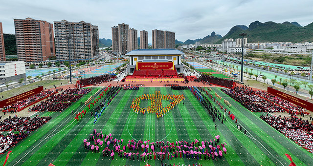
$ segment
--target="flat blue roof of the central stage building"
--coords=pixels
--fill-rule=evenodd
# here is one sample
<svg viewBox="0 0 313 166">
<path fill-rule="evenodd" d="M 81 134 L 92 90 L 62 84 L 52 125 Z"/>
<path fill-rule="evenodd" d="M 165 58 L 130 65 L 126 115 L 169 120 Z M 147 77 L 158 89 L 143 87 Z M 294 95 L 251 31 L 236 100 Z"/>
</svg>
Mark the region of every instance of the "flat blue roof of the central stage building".
<svg viewBox="0 0 313 166">
<path fill-rule="evenodd" d="M 136 49 L 125 55 L 183 55 L 184 53 L 177 49 Z"/>
</svg>

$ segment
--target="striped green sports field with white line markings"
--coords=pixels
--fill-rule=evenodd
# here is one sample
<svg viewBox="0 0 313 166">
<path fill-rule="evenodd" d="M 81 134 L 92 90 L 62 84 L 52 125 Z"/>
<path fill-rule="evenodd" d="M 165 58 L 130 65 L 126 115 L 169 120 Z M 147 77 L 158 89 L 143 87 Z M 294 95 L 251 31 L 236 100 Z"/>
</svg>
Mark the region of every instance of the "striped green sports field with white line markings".
<svg viewBox="0 0 313 166">
<path fill-rule="evenodd" d="M 180 103 L 164 117 L 156 119 L 153 114 L 136 114 L 130 108 L 133 99 L 142 94 L 153 94 L 160 90 L 161 94 L 183 94 L 184 104 Z M 92 94 L 97 88 L 92 89 Z M 121 90 L 104 110 L 97 123 L 93 125 L 93 117 L 88 107 L 81 106 L 80 102 L 86 101 L 90 93 L 72 104 L 64 112 L 41 112 L 40 116 L 52 116 L 52 119 L 41 128 L 33 131 L 26 139 L 11 148 L 12 153 L 8 159 L 8 166 L 46 166 L 52 163 L 56 166 L 144 166 L 145 162 L 129 161 L 124 158 L 102 157 L 100 153 L 92 153 L 84 148 L 84 139 L 89 139 L 89 134 L 95 128 L 104 134 L 112 133 L 116 139 L 151 140 L 156 141 L 194 141 L 200 142 L 213 139 L 215 135 L 221 136 L 221 142 L 227 145 L 227 154 L 217 160 L 194 160 L 186 158 L 164 160 L 163 163 L 195 164 L 202 166 L 288 166 L 290 161 L 284 155 L 291 155 L 297 166 L 312 165 L 313 154 L 294 144 L 285 136 L 263 122 L 258 116 L 260 113 L 252 113 L 239 103 L 225 95 L 220 88 L 212 88 L 212 94 L 218 93 L 223 99 L 232 104 L 228 108 L 223 101 L 220 103 L 227 110 L 234 113 L 239 124 L 243 125 L 248 133 L 236 128 L 234 121 L 226 117 L 227 122 L 215 123 L 211 116 L 204 110 L 197 98 L 190 90 L 171 90 L 170 87 L 140 87 L 139 90 Z M 206 96 L 208 97 L 208 96 Z M 217 99 L 217 98 L 216 98 Z M 222 100 L 223 100 L 222 99 Z M 211 99 L 209 99 L 211 100 Z M 218 99 L 219 100 L 219 99 Z M 213 103 L 213 102 L 212 102 Z M 97 103 L 98 104 L 98 103 Z M 97 106 L 95 104 L 95 106 Z M 141 107 L 148 106 L 150 101 L 142 101 Z M 163 105 L 168 104 L 166 101 Z M 216 105 L 216 103 L 215 103 Z M 79 122 L 74 120 L 76 114 L 71 110 L 88 110 L 85 117 Z M 220 111 L 222 111 L 220 109 Z M 224 113 L 224 111 L 223 111 Z M 228 114 L 227 114 L 228 115 Z M 217 130 L 215 130 L 215 125 Z M 3 164 L 5 155 L 1 155 L 0 164 Z M 152 166 L 160 166 L 160 161 L 148 162 Z"/>
</svg>

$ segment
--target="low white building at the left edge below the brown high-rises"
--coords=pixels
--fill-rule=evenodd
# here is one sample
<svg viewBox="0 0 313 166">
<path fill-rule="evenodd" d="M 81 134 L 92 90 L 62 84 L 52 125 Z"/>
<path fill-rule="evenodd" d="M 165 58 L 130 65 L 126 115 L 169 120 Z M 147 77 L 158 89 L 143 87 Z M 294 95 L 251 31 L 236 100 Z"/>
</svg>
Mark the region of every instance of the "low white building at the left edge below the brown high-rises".
<svg viewBox="0 0 313 166">
<path fill-rule="evenodd" d="M 0 83 L 18 82 L 26 79 L 25 62 L 0 62 Z"/>
</svg>

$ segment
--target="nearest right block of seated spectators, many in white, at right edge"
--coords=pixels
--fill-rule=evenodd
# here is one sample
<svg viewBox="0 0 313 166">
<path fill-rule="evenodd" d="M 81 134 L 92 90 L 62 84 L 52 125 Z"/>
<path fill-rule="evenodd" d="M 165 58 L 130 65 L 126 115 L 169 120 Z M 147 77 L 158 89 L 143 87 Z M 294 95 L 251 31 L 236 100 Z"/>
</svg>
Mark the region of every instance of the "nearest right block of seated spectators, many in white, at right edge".
<svg viewBox="0 0 313 166">
<path fill-rule="evenodd" d="M 268 125 L 271 125 L 296 144 L 313 153 L 313 125 L 308 120 L 296 116 L 281 118 L 281 116 L 260 116 Z"/>
</svg>

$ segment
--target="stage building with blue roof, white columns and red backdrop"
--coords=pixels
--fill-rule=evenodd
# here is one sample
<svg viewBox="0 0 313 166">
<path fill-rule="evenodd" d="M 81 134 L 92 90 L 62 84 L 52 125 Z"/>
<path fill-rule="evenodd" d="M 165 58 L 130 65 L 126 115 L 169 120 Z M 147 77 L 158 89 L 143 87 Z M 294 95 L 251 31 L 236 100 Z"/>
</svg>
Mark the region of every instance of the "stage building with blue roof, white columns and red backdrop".
<svg viewBox="0 0 313 166">
<path fill-rule="evenodd" d="M 127 66 L 127 72 L 133 75 L 162 75 L 181 73 L 183 64 L 181 56 L 183 52 L 177 49 L 136 49 L 127 53 L 130 57 L 130 65 Z M 151 71 L 151 72 L 149 72 Z"/>
</svg>

